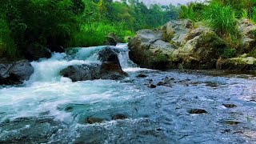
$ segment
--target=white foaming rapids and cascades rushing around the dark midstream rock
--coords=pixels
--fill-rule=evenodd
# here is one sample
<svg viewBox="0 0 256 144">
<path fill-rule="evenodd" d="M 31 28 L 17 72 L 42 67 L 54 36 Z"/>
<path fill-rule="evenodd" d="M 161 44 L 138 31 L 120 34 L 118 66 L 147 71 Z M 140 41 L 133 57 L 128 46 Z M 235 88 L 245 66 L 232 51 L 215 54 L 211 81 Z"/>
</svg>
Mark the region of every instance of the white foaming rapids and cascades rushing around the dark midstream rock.
<svg viewBox="0 0 256 144">
<path fill-rule="evenodd" d="M 59 74 L 67 66 L 100 63 L 98 51 L 104 47 L 72 48 L 67 54 L 53 53 L 49 59 L 31 62 L 34 74 L 29 81 L 24 82 L 20 87 L 0 89 L 0 106 L 2 106 L 0 114 L 4 112 L 0 122 L 8 118 L 38 117 L 42 113 L 49 113 L 61 120 L 69 119 L 70 115 L 59 111 L 58 106 L 77 101 L 118 101 L 119 99 L 114 98 L 113 95 L 114 90 L 122 86 L 119 82 L 111 80 L 71 82 L 70 78 L 63 78 Z M 126 44 L 119 44 L 115 49 L 118 50 L 118 59 L 123 70 L 140 70 L 130 61 Z"/>
</svg>

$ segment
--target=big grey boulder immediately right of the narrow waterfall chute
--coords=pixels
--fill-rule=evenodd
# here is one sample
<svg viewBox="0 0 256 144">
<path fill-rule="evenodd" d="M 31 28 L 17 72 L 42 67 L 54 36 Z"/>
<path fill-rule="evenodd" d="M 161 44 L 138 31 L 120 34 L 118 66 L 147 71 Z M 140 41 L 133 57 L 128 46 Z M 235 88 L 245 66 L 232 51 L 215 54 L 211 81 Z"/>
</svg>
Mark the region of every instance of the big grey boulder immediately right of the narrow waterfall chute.
<svg viewBox="0 0 256 144">
<path fill-rule="evenodd" d="M 161 30 L 139 30 L 128 44 L 130 59 L 138 66 L 151 69 L 166 69 L 171 66 L 174 48 L 162 39 Z"/>
</svg>

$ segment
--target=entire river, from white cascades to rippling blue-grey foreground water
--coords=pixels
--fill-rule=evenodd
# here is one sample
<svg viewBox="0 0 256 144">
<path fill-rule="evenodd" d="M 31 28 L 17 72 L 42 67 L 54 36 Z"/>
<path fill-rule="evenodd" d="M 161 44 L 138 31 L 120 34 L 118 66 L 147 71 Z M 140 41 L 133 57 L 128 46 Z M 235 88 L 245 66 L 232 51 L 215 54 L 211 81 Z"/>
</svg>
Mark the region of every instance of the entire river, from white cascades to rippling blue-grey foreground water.
<svg viewBox="0 0 256 144">
<path fill-rule="evenodd" d="M 66 66 L 98 62 L 102 48 L 74 48 L 31 62 L 29 81 L 2 86 L 0 143 L 256 143 L 253 75 L 140 69 L 126 45 L 115 48 L 130 75 L 122 81 L 71 82 L 59 75 Z M 166 77 L 172 79 L 168 86 L 147 86 Z M 116 114 L 127 118 L 111 120 Z M 88 124 L 88 118 L 104 121 Z"/>
</svg>

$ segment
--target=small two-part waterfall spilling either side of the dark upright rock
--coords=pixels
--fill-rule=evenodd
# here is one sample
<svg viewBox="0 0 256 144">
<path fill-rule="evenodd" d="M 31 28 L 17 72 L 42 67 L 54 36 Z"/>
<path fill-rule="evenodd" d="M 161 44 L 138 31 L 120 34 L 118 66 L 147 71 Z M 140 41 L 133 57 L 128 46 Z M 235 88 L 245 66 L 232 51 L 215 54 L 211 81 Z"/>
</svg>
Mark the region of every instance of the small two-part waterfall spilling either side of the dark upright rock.
<svg viewBox="0 0 256 144">
<path fill-rule="evenodd" d="M 34 67 L 34 74 L 27 83 L 33 82 L 60 82 L 63 78 L 59 72 L 71 65 L 90 64 L 98 61 L 98 52 L 106 46 L 76 47 L 66 50 L 66 54 L 54 53 L 49 59 L 42 59 L 38 62 L 31 62 Z M 122 69 L 134 67 L 129 59 L 127 44 L 111 46 L 118 53 L 118 59 Z"/>
</svg>

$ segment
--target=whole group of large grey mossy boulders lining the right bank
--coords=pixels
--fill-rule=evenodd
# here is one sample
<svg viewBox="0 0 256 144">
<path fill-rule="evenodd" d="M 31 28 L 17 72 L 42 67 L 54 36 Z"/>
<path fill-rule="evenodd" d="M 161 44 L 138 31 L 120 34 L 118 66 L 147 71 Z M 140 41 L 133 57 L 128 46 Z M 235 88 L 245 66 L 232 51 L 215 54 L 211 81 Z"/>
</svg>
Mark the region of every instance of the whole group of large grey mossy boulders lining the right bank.
<svg viewBox="0 0 256 144">
<path fill-rule="evenodd" d="M 139 30 L 129 42 L 130 59 L 138 66 L 150 69 L 222 69 L 252 70 L 256 58 L 254 50 L 256 26 L 250 20 L 239 23 L 242 42 L 237 58 L 222 58 L 228 50 L 226 42 L 214 30 L 190 20 L 170 21 L 160 30 Z"/>
</svg>

